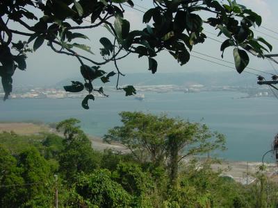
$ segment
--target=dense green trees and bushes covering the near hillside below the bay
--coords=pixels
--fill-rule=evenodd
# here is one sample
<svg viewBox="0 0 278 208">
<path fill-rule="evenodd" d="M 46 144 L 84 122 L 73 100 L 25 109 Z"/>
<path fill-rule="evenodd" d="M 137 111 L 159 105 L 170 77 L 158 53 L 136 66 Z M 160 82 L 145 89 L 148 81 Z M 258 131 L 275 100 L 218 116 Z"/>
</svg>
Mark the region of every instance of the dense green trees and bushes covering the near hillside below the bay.
<svg viewBox="0 0 278 208">
<path fill-rule="evenodd" d="M 58 123 L 64 137 L 1 133 L 0 207 L 54 207 L 56 189 L 59 207 L 278 206 L 278 186 L 262 172 L 245 186 L 212 171 L 212 159 L 175 163 L 223 147 L 224 137 L 205 125 L 140 112 L 121 116 L 123 125 L 106 139 L 129 148 L 124 154 L 93 150 L 76 119 Z M 173 144 L 187 150 L 175 157 Z"/>
</svg>

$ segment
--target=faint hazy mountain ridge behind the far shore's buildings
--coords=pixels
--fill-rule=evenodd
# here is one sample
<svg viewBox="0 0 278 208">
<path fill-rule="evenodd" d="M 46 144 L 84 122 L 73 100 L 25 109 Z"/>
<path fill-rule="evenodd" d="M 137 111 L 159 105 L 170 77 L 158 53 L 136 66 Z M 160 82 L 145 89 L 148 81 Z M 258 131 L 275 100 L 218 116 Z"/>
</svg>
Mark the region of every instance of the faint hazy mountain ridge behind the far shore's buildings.
<svg viewBox="0 0 278 208">
<path fill-rule="evenodd" d="M 63 87 L 70 85 L 70 81 L 79 80 L 82 82 L 81 76 L 79 78 L 67 78 L 61 80 L 54 87 Z M 103 84 L 100 80 L 95 80 L 96 86 L 115 86 L 116 77 L 111 78 L 110 83 Z M 186 72 L 186 73 L 129 73 L 120 78 L 120 85 L 179 85 L 188 86 L 201 84 L 205 86 L 256 86 L 256 76 L 248 73 L 238 74 L 236 72 L 223 73 L 200 73 L 200 72 Z"/>
</svg>

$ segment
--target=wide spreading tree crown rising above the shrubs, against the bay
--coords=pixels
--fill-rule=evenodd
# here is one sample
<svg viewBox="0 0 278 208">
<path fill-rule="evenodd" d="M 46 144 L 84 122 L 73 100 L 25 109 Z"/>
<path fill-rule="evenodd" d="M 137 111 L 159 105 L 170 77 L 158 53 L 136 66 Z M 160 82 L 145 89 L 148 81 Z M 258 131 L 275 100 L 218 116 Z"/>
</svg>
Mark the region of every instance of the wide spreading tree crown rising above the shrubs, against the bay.
<svg viewBox="0 0 278 208">
<path fill-rule="evenodd" d="M 224 135 L 206 125 L 142 112 L 121 112 L 120 116 L 123 125 L 108 130 L 104 140 L 120 142 L 138 162 L 167 165 L 173 182 L 185 157 L 224 148 Z"/>
</svg>

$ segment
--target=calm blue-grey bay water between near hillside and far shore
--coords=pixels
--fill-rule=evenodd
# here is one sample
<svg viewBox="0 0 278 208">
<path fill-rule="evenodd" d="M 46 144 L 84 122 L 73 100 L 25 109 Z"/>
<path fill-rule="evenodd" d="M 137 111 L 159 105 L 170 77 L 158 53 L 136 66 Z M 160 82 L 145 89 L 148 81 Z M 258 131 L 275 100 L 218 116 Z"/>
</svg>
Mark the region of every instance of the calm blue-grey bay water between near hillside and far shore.
<svg viewBox="0 0 278 208">
<path fill-rule="evenodd" d="M 121 125 L 121 111 L 167 113 L 181 119 L 206 123 L 227 137 L 227 150 L 218 153 L 229 160 L 261 161 L 278 133 L 278 100 L 271 97 L 239 98 L 239 92 L 146 92 L 145 100 L 112 92 L 109 98 L 90 102 L 83 110 L 81 98 L 10 99 L 0 102 L 0 121 L 57 122 L 74 117 L 89 135 L 103 136 Z M 266 161 L 272 162 L 271 154 Z"/>
</svg>

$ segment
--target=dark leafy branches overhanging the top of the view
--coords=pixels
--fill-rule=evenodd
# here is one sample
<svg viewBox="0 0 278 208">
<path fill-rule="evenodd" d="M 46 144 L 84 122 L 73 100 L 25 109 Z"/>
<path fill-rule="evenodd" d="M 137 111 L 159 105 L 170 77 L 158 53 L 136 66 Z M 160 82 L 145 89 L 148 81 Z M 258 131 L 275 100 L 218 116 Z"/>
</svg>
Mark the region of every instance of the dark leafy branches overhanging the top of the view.
<svg viewBox="0 0 278 208">
<path fill-rule="evenodd" d="M 119 78 L 123 74 L 117 62 L 131 53 L 145 58 L 146 68 L 152 73 L 158 70 L 156 56 L 161 51 L 170 53 L 181 65 L 186 64 L 193 46 L 206 40 L 204 24 L 226 37 L 220 48 L 222 56 L 225 49 L 234 48 L 238 73 L 250 61 L 247 53 L 263 58 L 265 51 L 272 50 L 263 37 L 254 37 L 252 27 L 261 26 L 261 17 L 235 0 L 154 0 L 153 6 L 142 17 L 145 28 L 134 31 L 131 30 L 131 20 L 124 17 L 124 6 L 132 8 L 134 3 L 131 0 L 1 1 L 0 76 L 4 100 L 12 92 L 15 69 L 26 69 L 26 53 L 32 51 L 28 44 L 33 44 L 35 52 L 47 42 L 55 53 L 70 55 L 79 61 L 84 83 L 72 81 L 72 85 L 64 88 L 67 92 L 88 91 L 82 102 L 85 109 L 89 108 L 88 101 L 95 99 L 92 92 L 106 96 L 102 87 L 94 86 L 97 79 L 107 83 L 112 76 L 117 76 L 117 89 L 123 89 L 126 96 L 136 94 L 131 85 L 119 86 Z M 206 18 L 207 14 L 209 18 Z M 90 23 L 86 18 L 90 18 Z M 17 30 L 10 21 L 15 21 L 24 29 Z M 81 40 L 88 39 L 83 34 L 84 30 L 93 31 L 99 26 L 106 27 L 113 35 L 113 40 L 107 37 L 99 40 L 102 45 L 101 61 L 94 59 L 90 46 L 81 43 Z M 15 42 L 15 35 L 20 35 L 19 42 Z M 76 49 L 83 49 L 88 55 L 76 53 Z M 114 62 L 116 72 L 100 69 L 108 62 Z"/>
</svg>

